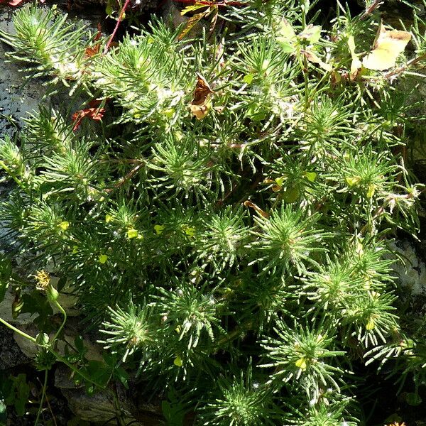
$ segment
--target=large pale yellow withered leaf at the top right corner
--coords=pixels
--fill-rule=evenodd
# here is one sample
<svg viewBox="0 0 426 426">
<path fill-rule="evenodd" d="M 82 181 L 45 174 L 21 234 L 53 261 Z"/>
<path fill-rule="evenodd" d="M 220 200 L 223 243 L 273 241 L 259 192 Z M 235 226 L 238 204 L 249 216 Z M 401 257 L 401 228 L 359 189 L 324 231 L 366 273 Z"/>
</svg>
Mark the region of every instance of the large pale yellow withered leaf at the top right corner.
<svg viewBox="0 0 426 426">
<path fill-rule="evenodd" d="M 368 70 L 383 71 L 395 66 L 396 59 L 403 53 L 411 39 L 407 31 L 386 31 L 383 23 L 378 27 L 373 50 L 362 60 Z"/>
</svg>

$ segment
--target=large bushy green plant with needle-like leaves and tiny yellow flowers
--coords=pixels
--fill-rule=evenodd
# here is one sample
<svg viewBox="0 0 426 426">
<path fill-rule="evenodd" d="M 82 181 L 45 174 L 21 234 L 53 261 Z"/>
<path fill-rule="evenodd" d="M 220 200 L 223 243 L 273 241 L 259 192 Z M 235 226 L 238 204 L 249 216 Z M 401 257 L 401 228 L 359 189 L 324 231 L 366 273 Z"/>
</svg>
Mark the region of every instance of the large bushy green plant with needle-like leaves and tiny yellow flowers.
<svg viewBox="0 0 426 426">
<path fill-rule="evenodd" d="M 64 362 L 90 392 L 136 371 L 175 392 L 169 422 L 192 411 L 200 425 L 360 424 L 357 375 L 376 361 L 420 398 L 424 337 L 399 315 L 386 256 L 420 226 L 404 150 L 424 118 L 424 23 L 414 15 L 413 58 L 381 70 L 364 60 L 378 2 L 361 16 L 336 2 L 332 21 L 319 1 L 214 7 L 192 43 L 153 18 L 111 47 L 36 6 L 1 33 L 30 83 L 87 100 L 75 114 L 40 107 L 0 142 L 11 249 L 64 316 L 50 342 L 26 336 L 38 365 Z M 0 295 L 35 286 L 6 255 L 0 279 Z M 80 341 L 56 350 L 65 291 L 104 362 Z M 46 320 L 35 298 L 22 309 Z"/>
</svg>

